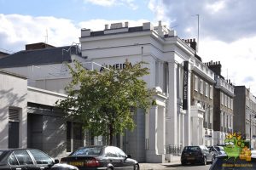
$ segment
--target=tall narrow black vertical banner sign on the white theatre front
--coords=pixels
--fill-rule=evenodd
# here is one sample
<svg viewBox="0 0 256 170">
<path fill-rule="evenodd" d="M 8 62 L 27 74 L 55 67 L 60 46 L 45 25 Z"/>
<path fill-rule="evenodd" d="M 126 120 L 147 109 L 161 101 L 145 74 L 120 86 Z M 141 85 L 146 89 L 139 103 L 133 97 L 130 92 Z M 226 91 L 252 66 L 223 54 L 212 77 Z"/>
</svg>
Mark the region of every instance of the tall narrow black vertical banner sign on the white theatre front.
<svg viewBox="0 0 256 170">
<path fill-rule="evenodd" d="M 183 62 L 183 110 L 188 109 L 189 61 Z"/>
</svg>

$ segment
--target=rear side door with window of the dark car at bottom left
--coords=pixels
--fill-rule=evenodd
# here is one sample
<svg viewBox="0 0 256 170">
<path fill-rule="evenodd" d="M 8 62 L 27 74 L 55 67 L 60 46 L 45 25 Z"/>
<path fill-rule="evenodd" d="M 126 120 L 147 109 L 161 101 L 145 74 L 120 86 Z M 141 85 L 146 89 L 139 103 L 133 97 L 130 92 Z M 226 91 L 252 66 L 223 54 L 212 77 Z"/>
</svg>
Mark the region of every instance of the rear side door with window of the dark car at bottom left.
<svg viewBox="0 0 256 170">
<path fill-rule="evenodd" d="M 34 162 L 32 161 L 31 156 L 27 153 L 26 150 L 15 150 L 14 151 L 14 155 L 17 158 L 17 160 L 19 161 L 19 165 L 21 167 L 21 169 L 34 169 L 34 170 L 39 170 L 40 167 L 37 167 L 37 165 L 34 164 Z M 18 169 L 16 169 L 18 170 Z"/>
</svg>

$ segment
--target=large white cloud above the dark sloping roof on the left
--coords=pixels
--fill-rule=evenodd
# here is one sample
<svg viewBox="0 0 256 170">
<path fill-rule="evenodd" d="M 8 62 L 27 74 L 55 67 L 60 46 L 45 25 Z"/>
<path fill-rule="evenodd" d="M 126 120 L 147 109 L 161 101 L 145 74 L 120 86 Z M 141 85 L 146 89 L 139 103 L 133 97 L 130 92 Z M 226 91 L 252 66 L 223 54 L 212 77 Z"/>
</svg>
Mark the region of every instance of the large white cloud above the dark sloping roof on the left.
<svg viewBox="0 0 256 170">
<path fill-rule="evenodd" d="M 79 42 L 80 29 L 71 20 L 0 14 L 0 23 L 0 47 L 11 51 L 24 49 L 26 43 L 45 42 L 46 39 L 54 46 Z"/>
</svg>

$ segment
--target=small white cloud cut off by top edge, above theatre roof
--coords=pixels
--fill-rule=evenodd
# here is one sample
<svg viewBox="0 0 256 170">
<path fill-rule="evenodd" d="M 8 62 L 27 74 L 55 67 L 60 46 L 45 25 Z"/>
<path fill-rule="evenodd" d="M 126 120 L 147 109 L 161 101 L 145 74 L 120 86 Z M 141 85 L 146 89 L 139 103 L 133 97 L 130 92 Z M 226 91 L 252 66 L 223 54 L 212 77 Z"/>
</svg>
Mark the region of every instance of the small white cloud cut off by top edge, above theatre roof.
<svg viewBox="0 0 256 170">
<path fill-rule="evenodd" d="M 113 7 L 117 5 L 127 5 L 131 9 L 137 9 L 137 5 L 134 0 L 84 0 L 84 3 L 92 3 L 103 7 Z"/>
</svg>

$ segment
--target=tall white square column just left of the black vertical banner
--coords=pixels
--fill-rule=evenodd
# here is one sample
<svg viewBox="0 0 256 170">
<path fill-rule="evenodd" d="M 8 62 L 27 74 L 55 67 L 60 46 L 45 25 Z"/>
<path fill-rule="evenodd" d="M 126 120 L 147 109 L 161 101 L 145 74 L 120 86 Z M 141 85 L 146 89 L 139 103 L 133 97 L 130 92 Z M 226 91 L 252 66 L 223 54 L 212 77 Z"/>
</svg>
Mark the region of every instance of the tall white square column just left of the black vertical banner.
<svg viewBox="0 0 256 170">
<path fill-rule="evenodd" d="M 177 63 L 168 63 L 169 99 L 167 107 L 167 144 L 177 144 Z"/>
</svg>

